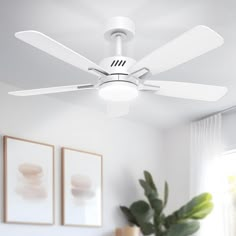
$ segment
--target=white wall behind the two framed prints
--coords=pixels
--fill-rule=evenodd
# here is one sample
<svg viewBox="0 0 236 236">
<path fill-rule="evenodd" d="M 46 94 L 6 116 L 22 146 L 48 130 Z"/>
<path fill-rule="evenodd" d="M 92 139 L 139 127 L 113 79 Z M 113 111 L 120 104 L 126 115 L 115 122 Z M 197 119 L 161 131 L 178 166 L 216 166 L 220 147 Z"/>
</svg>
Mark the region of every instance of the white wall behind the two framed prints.
<svg viewBox="0 0 236 236">
<path fill-rule="evenodd" d="M 161 134 L 158 130 L 129 122 L 109 120 L 103 114 L 72 106 L 52 97 L 19 98 L 7 95 L 13 88 L 0 84 L 0 133 L 56 146 L 56 225 L 9 225 L 0 222 L 0 235 L 108 236 L 124 224 L 119 204 L 129 204 L 142 191 L 137 179 L 144 169 L 162 176 Z M 102 228 L 60 226 L 60 147 L 67 146 L 104 156 L 104 224 Z M 2 148 L 2 146 L 1 146 Z M 0 159 L 2 173 L 2 156 Z M 0 175 L 2 189 L 2 174 Z M 0 212 L 3 211 L 2 190 Z"/>
</svg>

